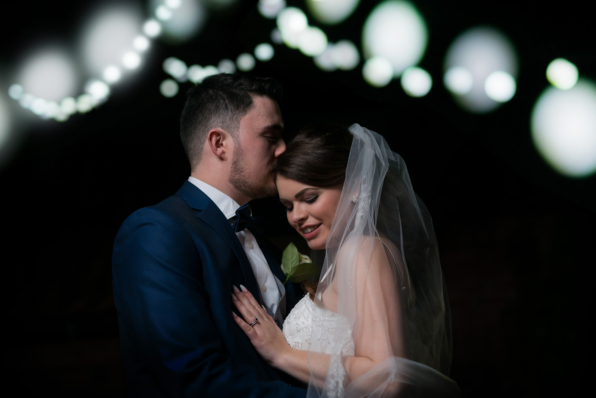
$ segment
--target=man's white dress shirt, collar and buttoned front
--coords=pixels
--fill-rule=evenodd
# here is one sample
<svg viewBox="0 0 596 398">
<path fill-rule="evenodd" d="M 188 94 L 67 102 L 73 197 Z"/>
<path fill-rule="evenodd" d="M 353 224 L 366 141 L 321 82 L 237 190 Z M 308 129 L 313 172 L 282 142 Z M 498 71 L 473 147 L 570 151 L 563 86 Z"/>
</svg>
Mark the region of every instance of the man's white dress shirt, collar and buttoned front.
<svg viewBox="0 0 596 398">
<path fill-rule="evenodd" d="M 236 203 L 234 199 L 200 179 L 189 177 L 188 181 L 203 191 L 203 193 L 207 195 L 217 207 L 219 207 L 219 210 L 224 213 L 226 219 L 229 220 L 236 215 L 236 210 L 238 210 L 240 205 Z M 231 223 L 232 222 L 233 221 L 231 220 Z M 253 269 L 254 278 L 257 279 L 257 285 L 259 285 L 261 290 L 260 294 L 261 297 L 263 297 L 263 301 L 265 301 L 265 305 L 275 313 L 277 304 L 281 298 L 280 290 L 277 287 L 277 282 L 275 282 L 275 276 L 273 275 L 273 272 L 271 272 L 271 268 L 269 268 L 263 252 L 260 250 L 259 244 L 248 229 L 236 232 L 236 236 L 244 248 L 246 256 L 249 257 L 250 266 Z M 258 294 L 255 291 L 250 293 L 252 293 L 253 296 L 257 296 Z"/>
</svg>

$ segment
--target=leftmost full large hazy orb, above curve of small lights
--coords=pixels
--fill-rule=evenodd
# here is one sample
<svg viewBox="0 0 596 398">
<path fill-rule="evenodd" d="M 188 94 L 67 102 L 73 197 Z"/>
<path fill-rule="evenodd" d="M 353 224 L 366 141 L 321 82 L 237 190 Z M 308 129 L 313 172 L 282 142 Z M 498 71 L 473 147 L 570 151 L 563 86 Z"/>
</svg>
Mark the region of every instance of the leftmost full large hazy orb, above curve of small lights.
<svg viewBox="0 0 596 398">
<path fill-rule="evenodd" d="M 46 48 L 32 54 L 18 73 L 25 92 L 46 100 L 60 101 L 75 94 L 79 76 L 75 64 L 63 51 Z"/>
</svg>

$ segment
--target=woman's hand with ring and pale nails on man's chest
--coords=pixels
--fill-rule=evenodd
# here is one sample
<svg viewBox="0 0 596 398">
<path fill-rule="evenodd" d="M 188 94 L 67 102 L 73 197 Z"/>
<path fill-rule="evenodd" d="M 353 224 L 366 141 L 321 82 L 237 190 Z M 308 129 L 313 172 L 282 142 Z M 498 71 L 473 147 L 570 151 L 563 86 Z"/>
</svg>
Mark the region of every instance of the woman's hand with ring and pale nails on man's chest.
<svg viewBox="0 0 596 398">
<path fill-rule="evenodd" d="M 265 359 L 265 362 L 271 366 L 275 366 L 275 361 L 279 361 L 285 352 L 291 350 L 287 341 L 285 341 L 284 333 L 275 324 L 271 315 L 269 315 L 263 307 L 257 303 L 253 295 L 246 287 L 240 285 L 242 291 L 234 286 L 234 293 L 232 293 L 232 303 L 240 312 L 240 315 L 249 323 L 243 321 L 242 318 L 232 312 L 232 318 L 236 324 L 246 333 L 254 348 Z M 250 326 L 257 318 L 259 321 Z"/>
</svg>

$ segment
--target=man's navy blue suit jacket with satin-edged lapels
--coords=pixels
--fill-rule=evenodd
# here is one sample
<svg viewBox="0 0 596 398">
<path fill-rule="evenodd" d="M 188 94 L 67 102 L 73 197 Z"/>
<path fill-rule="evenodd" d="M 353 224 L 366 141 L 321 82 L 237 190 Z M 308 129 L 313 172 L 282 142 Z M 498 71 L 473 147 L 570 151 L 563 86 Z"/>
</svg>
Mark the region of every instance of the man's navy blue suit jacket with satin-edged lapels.
<svg viewBox="0 0 596 398">
<path fill-rule="evenodd" d="M 255 237 L 284 281 L 280 257 Z M 112 275 L 132 396 L 306 395 L 284 383 L 287 375 L 265 363 L 232 320 L 232 284 L 257 293 L 257 282 L 224 214 L 190 182 L 125 220 L 114 242 Z M 286 295 L 289 313 L 296 303 L 292 284 Z"/>
</svg>

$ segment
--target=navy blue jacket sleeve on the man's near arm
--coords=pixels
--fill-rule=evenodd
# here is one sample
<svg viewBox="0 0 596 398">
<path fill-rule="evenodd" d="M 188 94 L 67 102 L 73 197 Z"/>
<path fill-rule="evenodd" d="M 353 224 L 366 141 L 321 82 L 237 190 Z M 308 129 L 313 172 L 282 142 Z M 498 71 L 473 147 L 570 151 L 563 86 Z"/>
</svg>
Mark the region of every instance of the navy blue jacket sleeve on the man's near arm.
<svg viewBox="0 0 596 398">
<path fill-rule="evenodd" d="M 114 242 L 114 301 L 121 334 L 162 396 L 304 397 L 283 381 L 262 381 L 235 366 L 212 322 L 188 232 L 171 216 L 145 208 L 123 223 Z M 125 329 L 125 330 L 122 330 Z M 138 391 L 129 391 L 132 395 Z"/>
</svg>

